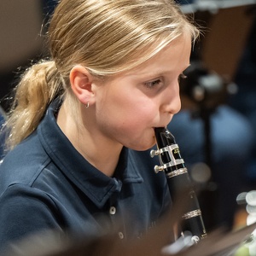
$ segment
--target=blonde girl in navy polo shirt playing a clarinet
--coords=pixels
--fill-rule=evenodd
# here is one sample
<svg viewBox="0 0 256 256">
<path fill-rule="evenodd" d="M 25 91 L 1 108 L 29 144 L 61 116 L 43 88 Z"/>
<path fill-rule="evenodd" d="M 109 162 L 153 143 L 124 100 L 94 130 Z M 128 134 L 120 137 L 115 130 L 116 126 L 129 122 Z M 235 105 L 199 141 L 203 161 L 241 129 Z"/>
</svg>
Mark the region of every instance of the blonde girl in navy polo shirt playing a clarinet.
<svg viewBox="0 0 256 256">
<path fill-rule="evenodd" d="M 29 68 L 0 169 L 0 244 L 42 230 L 139 237 L 170 204 L 148 148 L 180 109 L 198 30 L 172 0 L 61 0 Z"/>
</svg>

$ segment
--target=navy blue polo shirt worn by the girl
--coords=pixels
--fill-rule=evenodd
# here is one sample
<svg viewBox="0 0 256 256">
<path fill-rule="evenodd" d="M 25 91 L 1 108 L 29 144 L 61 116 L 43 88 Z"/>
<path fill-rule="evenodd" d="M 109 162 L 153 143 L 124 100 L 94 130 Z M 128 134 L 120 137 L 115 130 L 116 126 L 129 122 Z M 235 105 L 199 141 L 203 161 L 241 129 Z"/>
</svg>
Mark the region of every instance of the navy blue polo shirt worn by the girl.
<svg viewBox="0 0 256 256">
<path fill-rule="evenodd" d="M 165 174 L 154 173 L 158 159 L 123 148 L 113 177 L 106 176 L 63 134 L 58 108 L 53 102 L 0 166 L 1 247 L 51 229 L 96 236 L 118 224 L 120 238 L 141 236 L 170 204 Z"/>
</svg>

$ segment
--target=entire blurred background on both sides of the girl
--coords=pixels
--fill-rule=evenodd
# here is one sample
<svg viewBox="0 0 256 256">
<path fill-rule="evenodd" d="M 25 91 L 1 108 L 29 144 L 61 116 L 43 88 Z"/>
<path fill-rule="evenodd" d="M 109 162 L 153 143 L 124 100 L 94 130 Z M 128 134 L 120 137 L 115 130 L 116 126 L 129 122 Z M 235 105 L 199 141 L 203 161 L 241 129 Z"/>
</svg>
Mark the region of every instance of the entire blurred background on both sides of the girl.
<svg viewBox="0 0 256 256">
<path fill-rule="evenodd" d="M 202 33 L 188 78 L 180 82 L 182 110 L 168 128 L 202 189 L 207 230 L 236 229 L 256 218 L 256 0 L 177 3 Z M 45 36 L 55 4 L 0 2 L 1 124 L 20 74 L 48 56 Z"/>
</svg>

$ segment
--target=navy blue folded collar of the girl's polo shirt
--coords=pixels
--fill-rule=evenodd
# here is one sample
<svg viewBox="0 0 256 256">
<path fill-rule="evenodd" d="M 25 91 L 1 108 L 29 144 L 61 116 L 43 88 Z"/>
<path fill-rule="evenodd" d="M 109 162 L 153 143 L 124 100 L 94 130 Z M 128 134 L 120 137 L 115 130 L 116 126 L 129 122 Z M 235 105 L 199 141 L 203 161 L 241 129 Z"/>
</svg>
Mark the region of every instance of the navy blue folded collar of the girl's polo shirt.
<svg viewBox="0 0 256 256">
<path fill-rule="evenodd" d="M 131 164 L 130 149 L 123 148 L 114 177 L 108 177 L 79 154 L 56 124 L 55 113 L 61 102 L 52 102 L 38 126 L 38 136 L 44 150 L 55 166 L 63 172 L 91 201 L 98 207 L 103 207 L 108 198 L 120 191 L 122 183 L 142 183 L 137 166 Z M 99 156 L 100 157 L 100 156 Z"/>
</svg>

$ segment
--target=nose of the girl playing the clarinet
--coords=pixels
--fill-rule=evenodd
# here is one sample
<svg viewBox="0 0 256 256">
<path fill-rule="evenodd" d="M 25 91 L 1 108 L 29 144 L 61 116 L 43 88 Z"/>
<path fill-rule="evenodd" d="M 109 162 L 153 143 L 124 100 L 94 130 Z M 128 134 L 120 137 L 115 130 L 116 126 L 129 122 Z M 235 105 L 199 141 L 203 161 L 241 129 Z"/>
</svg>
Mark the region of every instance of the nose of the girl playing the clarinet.
<svg viewBox="0 0 256 256">
<path fill-rule="evenodd" d="M 178 113 L 181 109 L 181 99 L 179 94 L 179 84 L 175 84 L 175 86 L 170 86 L 164 92 L 164 103 L 162 105 L 162 111 L 175 114 Z"/>
</svg>

